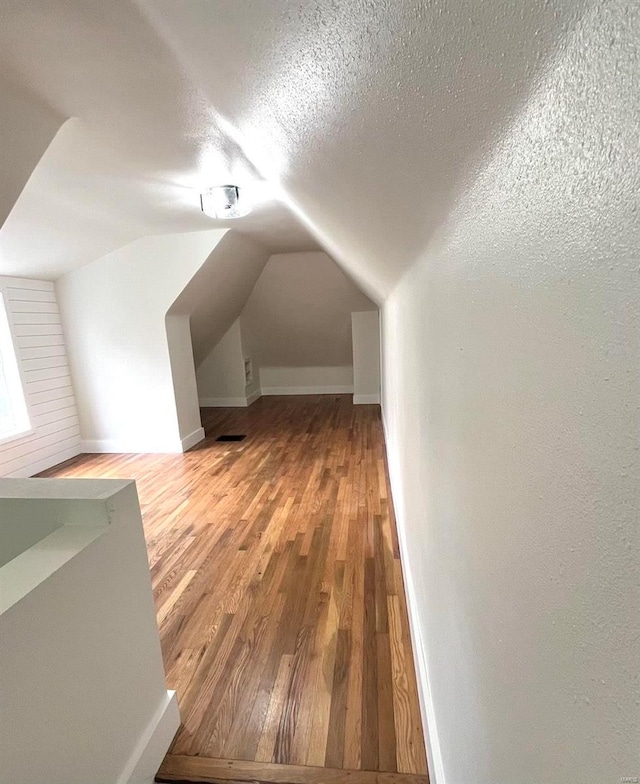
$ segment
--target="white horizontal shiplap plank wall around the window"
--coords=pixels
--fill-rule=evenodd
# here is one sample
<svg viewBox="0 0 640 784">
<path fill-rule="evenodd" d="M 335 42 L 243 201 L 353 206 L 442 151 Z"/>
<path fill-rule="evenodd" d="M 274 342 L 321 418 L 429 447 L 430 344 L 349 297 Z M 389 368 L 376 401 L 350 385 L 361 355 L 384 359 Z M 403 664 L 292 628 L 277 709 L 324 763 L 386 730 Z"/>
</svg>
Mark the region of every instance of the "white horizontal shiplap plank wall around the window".
<svg viewBox="0 0 640 784">
<path fill-rule="evenodd" d="M 80 428 L 53 283 L 0 277 L 32 430 L 0 444 L 0 476 L 31 476 L 80 452 Z"/>
</svg>

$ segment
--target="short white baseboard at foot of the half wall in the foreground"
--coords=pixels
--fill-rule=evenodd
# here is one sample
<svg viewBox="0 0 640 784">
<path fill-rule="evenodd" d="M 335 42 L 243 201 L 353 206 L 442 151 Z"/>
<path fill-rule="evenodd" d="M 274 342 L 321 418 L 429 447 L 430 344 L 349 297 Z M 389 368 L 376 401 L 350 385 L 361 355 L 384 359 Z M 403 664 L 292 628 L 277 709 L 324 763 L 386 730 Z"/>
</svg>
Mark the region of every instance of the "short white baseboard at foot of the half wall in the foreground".
<svg viewBox="0 0 640 784">
<path fill-rule="evenodd" d="M 166 699 L 136 743 L 117 784 L 152 784 L 179 727 L 176 693 L 168 691 Z"/>
</svg>

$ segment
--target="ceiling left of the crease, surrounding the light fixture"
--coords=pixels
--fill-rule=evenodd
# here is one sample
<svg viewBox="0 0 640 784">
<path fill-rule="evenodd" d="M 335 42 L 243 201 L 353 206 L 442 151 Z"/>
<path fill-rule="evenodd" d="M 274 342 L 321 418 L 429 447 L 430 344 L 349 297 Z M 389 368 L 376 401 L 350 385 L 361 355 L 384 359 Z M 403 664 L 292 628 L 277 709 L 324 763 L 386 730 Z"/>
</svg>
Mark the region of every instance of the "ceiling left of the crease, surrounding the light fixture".
<svg viewBox="0 0 640 784">
<path fill-rule="evenodd" d="M 134 3 L 3 2 L 0 70 L 23 91 L 19 105 L 3 96 L 3 126 L 15 117 L 0 126 L 3 162 L 34 127 L 45 137 L 24 156 L 20 187 L 0 182 L 0 206 L 13 207 L 0 274 L 55 279 L 142 236 L 225 226 L 272 252 L 319 247 L 278 201 L 258 204 L 242 225 L 200 212 L 204 187 L 261 176 Z M 46 121 L 22 109 L 27 99 Z"/>
</svg>

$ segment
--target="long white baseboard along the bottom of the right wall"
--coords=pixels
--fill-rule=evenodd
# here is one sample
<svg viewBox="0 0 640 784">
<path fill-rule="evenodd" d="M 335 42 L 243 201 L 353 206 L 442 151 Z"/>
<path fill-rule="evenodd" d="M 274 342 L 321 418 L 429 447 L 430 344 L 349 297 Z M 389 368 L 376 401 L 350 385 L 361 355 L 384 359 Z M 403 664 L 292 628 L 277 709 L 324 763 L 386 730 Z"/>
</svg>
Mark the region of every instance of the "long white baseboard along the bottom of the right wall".
<svg viewBox="0 0 640 784">
<path fill-rule="evenodd" d="M 420 631 L 420 619 L 417 614 L 417 600 L 414 589 L 414 582 L 409 566 L 409 547 L 405 539 L 405 526 L 402 509 L 399 504 L 393 502 L 394 496 L 401 498 L 400 483 L 396 480 L 395 461 L 389 455 L 389 437 L 387 421 L 382 409 L 382 430 L 384 433 L 384 446 L 387 455 L 387 465 L 389 466 L 389 484 L 391 486 L 391 503 L 394 507 L 396 518 L 396 531 L 398 543 L 400 545 L 400 563 L 404 577 L 404 586 L 407 599 L 407 610 L 409 614 L 409 632 L 413 648 L 413 659 L 416 668 L 418 682 L 418 702 L 420 703 L 420 713 L 422 715 L 422 727 L 424 730 L 424 740 L 427 750 L 427 761 L 429 763 L 429 781 L 431 784 L 446 784 L 444 775 L 444 762 L 442 760 L 442 750 L 440 749 L 440 739 L 436 725 L 436 714 L 433 705 L 433 696 L 429 686 L 429 671 L 427 668 L 427 656 L 422 632 Z M 395 488 L 395 489 L 394 489 Z"/>
</svg>

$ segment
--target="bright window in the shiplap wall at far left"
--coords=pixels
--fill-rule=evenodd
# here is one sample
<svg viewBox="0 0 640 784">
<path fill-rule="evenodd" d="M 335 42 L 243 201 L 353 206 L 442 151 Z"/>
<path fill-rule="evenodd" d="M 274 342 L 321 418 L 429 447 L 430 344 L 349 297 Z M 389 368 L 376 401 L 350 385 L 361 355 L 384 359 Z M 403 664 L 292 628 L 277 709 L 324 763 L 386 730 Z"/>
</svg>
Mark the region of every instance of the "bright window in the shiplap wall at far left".
<svg viewBox="0 0 640 784">
<path fill-rule="evenodd" d="M 0 443 L 31 429 L 6 302 L 0 291 Z"/>
</svg>

